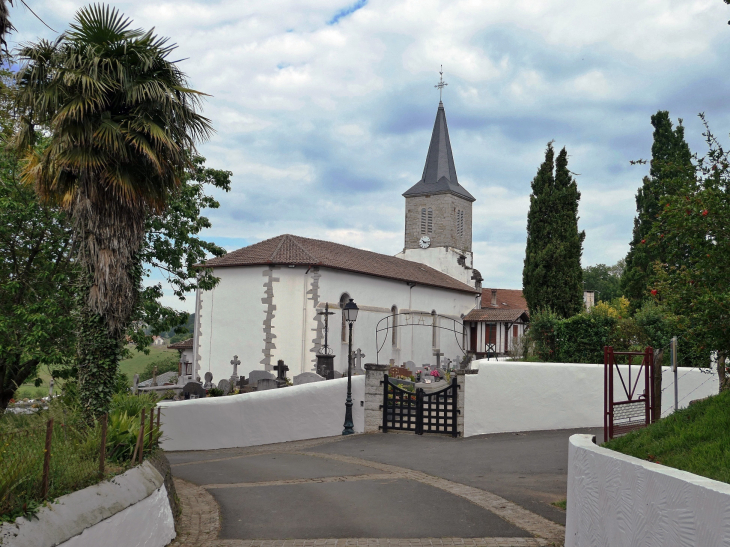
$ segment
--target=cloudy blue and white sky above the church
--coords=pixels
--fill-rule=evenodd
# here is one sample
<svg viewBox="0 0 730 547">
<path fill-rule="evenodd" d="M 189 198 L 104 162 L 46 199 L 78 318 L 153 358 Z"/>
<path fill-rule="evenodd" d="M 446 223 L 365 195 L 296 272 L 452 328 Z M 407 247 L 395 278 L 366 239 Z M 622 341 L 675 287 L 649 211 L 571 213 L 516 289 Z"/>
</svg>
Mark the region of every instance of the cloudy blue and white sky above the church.
<svg viewBox="0 0 730 547">
<path fill-rule="evenodd" d="M 52 29 L 84 4 L 27 0 Z M 215 135 L 199 147 L 233 172 L 204 233 L 235 250 L 284 233 L 396 254 L 443 102 L 459 182 L 476 198 L 474 263 L 487 287 L 522 286 L 530 183 L 549 141 L 582 197 L 583 266 L 628 251 L 648 166 L 650 117 L 697 115 L 730 132 L 730 7 L 722 0 L 189 0 L 113 4 L 154 27 Z M 22 3 L 11 47 L 55 38 Z M 153 272 L 152 282 L 161 278 Z M 163 280 L 163 287 L 164 287 Z M 170 293 L 170 291 L 167 291 Z M 192 311 L 193 299 L 165 303 Z"/>
</svg>

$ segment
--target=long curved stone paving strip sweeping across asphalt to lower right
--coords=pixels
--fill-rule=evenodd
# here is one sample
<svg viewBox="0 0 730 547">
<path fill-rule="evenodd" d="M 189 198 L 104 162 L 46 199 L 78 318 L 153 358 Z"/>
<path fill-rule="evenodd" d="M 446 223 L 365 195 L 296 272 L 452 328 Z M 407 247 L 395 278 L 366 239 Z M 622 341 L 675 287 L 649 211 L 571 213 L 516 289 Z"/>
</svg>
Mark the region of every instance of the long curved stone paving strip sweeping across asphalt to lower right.
<svg viewBox="0 0 730 547">
<path fill-rule="evenodd" d="M 386 473 L 392 473 L 399 477 L 428 484 L 454 494 L 455 496 L 462 497 L 479 507 L 483 507 L 487 511 L 491 511 L 498 517 L 514 524 L 518 528 L 522 528 L 523 530 L 530 532 L 533 536 L 545 538 L 550 541 L 557 541 L 561 544 L 565 541 L 565 527 L 560 524 L 556 524 L 545 517 L 541 517 L 532 511 L 528 511 L 524 507 L 497 496 L 496 494 L 487 492 L 486 490 L 480 490 L 479 488 L 474 488 L 458 482 L 434 477 L 433 475 L 428 475 L 427 473 L 422 473 L 420 471 L 413 471 L 405 467 L 378 463 L 371 460 L 363 460 L 362 458 L 354 458 L 352 456 L 325 454 L 320 452 L 299 452 L 299 454 L 302 456 L 326 458 L 344 463 L 372 467 L 374 469 L 379 469 L 380 471 L 385 471 Z"/>
</svg>

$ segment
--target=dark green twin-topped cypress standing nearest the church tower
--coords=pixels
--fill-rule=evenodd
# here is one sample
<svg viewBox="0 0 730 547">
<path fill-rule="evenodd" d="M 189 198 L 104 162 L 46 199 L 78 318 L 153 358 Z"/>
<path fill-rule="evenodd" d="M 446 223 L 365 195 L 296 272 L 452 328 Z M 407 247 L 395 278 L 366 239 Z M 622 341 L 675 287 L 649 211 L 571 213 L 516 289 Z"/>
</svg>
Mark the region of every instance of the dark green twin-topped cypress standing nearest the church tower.
<svg viewBox="0 0 730 547">
<path fill-rule="evenodd" d="M 570 317 L 583 309 L 585 232 L 578 231 L 578 185 L 568 170 L 563 148 L 555 160 L 552 142 L 532 181 L 527 216 L 523 294 L 531 313 L 551 309 Z"/>
</svg>

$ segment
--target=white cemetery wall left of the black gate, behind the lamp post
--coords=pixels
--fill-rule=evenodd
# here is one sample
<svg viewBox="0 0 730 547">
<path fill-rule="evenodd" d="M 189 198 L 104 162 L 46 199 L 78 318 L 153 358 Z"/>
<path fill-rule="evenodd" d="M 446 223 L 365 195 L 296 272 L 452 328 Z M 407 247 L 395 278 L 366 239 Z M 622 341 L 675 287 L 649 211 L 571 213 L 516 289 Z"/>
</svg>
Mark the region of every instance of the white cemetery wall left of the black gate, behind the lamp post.
<svg viewBox="0 0 730 547">
<path fill-rule="evenodd" d="M 164 450 L 211 450 L 334 437 L 345 421 L 347 378 L 159 403 Z M 365 376 L 352 377 L 355 432 L 365 430 Z"/>
</svg>

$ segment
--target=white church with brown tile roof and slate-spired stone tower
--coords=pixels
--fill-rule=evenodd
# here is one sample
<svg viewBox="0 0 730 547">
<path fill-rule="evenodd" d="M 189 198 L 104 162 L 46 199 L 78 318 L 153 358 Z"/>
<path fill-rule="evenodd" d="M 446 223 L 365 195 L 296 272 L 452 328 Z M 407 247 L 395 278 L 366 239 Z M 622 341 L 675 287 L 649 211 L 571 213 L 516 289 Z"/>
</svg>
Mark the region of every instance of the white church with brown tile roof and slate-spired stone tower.
<svg viewBox="0 0 730 547">
<path fill-rule="evenodd" d="M 327 346 L 345 373 L 350 299 L 360 309 L 353 350 L 362 363 L 461 360 L 471 341 L 463 321 L 482 307 L 482 278 L 473 268 L 475 198 L 457 179 L 441 102 L 421 180 L 403 196 L 405 244 L 396 256 L 284 234 L 207 261 L 220 282 L 196 295 L 195 376 L 229 377 L 234 355 L 245 376 L 280 359 L 290 377 L 314 371 L 326 317 Z"/>
</svg>

